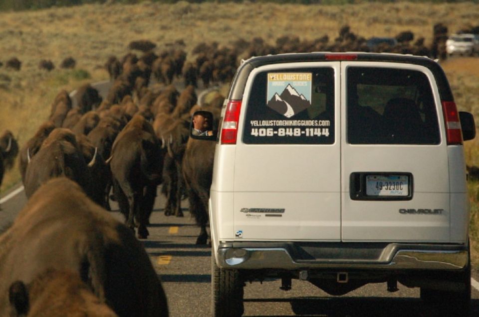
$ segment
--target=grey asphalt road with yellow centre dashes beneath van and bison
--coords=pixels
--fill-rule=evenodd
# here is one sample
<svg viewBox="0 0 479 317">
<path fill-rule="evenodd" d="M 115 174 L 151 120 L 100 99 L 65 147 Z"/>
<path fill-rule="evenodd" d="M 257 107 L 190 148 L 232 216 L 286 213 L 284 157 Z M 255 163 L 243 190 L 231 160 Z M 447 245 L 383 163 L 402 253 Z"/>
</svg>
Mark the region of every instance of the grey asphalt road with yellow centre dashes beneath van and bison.
<svg viewBox="0 0 479 317">
<path fill-rule="evenodd" d="M 0 203 L 0 228 L 11 222 L 24 206 L 21 191 Z M 171 317 L 208 317 L 211 304 L 211 250 L 195 245 L 199 228 L 183 202 L 185 217 L 165 216 L 165 198 L 159 194 L 149 226 L 150 236 L 142 240 L 163 281 Z M 123 220 L 112 204 L 112 214 Z M 474 272 L 478 280 L 478 272 Z M 290 291 L 279 289 L 279 280 L 247 283 L 243 316 L 325 316 L 325 317 L 433 317 L 447 316 L 441 307 L 428 306 L 419 299 L 419 289 L 403 285 L 388 293 L 386 284 L 366 285 L 347 295 L 332 297 L 305 281 L 292 282 Z M 447 303 L 446 303 L 447 305 Z M 479 316 L 479 291 L 473 287 L 473 315 Z"/>
</svg>

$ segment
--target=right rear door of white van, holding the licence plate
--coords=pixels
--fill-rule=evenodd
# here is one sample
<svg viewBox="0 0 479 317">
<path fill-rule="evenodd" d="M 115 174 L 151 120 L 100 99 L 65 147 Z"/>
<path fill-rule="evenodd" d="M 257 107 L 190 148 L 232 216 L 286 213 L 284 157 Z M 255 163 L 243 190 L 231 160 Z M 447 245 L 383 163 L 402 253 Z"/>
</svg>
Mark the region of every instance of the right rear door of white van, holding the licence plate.
<svg viewBox="0 0 479 317">
<path fill-rule="evenodd" d="M 341 239 L 450 239 L 448 148 L 432 73 L 341 63 Z"/>
</svg>

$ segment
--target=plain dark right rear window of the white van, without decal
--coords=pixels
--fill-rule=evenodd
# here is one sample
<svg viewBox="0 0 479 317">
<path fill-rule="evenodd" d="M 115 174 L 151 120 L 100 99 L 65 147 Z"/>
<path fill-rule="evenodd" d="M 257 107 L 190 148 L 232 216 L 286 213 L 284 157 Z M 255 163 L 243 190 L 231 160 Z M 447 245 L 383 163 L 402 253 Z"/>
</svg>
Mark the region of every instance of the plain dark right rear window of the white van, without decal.
<svg viewBox="0 0 479 317">
<path fill-rule="evenodd" d="M 347 139 L 351 144 L 439 144 L 433 92 L 420 71 L 349 67 Z"/>
</svg>

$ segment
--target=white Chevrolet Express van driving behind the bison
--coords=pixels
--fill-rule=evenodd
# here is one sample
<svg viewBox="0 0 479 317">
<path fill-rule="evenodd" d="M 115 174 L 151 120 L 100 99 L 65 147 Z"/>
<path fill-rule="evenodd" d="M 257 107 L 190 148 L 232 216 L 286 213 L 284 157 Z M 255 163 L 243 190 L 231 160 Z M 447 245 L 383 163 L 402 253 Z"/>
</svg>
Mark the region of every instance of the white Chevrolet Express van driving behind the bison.
<svg viewBox="0 0 479 317">
<path fill-rule="evenodd" d="M 429 58 L 244 61 L 220 119 L 210 192 L 213 316 L 241 316 L 244 282 L 264 278 L 332 295 L 400 282 L 466 316 L 463 140 L 475 133 Z"/>
</svg>

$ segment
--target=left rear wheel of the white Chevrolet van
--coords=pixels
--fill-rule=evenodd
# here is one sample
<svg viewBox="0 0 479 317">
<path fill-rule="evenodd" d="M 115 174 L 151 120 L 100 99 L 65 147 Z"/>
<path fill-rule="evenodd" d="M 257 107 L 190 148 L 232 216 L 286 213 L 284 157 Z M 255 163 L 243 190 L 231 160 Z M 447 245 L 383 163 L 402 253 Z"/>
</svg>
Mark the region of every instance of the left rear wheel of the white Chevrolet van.
<svg viewBox="0 0 479 317">
<path fill-rule="evenodd" d="M 240 317 L 244 313 L 243 287 L 238 270 L 220 269 L 211 257 L 213 317 Z"/>
</svg>

